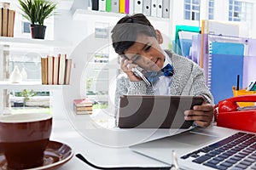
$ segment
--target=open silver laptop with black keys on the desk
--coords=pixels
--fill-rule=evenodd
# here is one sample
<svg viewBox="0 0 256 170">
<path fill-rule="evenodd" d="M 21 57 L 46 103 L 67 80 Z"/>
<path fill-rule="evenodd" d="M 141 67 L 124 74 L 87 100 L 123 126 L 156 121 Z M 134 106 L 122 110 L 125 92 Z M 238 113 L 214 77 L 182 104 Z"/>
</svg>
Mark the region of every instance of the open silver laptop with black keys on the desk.
<svg viewBox="0 0 256 170">
<path fill-rule="evenodd" d="M 256 169 L 256 133 L 224 127 L 189 132 L 130 146 L 131 150 L 172 165 L 172 150 L 181 169 Z"/>
</svg>

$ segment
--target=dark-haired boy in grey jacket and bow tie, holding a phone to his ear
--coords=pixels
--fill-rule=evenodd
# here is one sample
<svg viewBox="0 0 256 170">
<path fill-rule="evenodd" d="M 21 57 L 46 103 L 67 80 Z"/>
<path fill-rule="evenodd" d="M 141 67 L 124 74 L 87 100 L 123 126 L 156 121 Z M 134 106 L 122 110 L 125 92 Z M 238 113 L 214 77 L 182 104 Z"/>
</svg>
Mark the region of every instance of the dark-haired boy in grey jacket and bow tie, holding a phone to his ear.
<svg viewBox="0 0 256 170">
<path fill-rule="evenodd" d="M 199 127 L 211 124 L 213 98 L 201 67 L 172 50 L 160 48 L 163 37 L 143 14 L 126 15 L 119 20 L 113 27 L 112 41 L 115 52 L 122 57 L 120 67 L 125 72 L 117 79 L 116 105 L 124 94 L 202 96 L 204 103 L 185 111 L 184 119 Z M 136 66 L 143 69 L 150 86 L 132 71 Z"/>
</svg>

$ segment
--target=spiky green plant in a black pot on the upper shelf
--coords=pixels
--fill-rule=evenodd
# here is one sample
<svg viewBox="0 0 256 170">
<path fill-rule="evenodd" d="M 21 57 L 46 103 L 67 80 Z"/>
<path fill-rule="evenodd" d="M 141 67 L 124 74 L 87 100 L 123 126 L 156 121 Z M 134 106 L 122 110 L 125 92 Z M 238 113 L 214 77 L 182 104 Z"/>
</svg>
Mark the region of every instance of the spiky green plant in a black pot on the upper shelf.
<svg viewBox="0 0 256 170">
<path fill-rule="evenodd" d="M 18 0 L 23 16 L 31 23 L 32 38 L 44 39 L 44 20 L 54 15 L 56 3 L 49 0 Z"/>
</svg>

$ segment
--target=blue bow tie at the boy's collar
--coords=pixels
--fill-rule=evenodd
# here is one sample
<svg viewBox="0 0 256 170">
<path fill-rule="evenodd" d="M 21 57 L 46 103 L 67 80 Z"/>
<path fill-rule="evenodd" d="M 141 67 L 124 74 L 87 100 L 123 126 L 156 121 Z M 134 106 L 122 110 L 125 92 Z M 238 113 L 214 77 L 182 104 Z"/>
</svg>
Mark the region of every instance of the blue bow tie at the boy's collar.
<svg viewBox="0 0 256 170">
<path fill-rule="evenodd" d="M 172 68 L 172 65 L 167 64 L 160 71 L 145 72 L 144 76 L 147 77 L 148 81 L 151 82 L 151 84 L 154 84 L 155 82 L 158 81 L 160 76 L 172 77 L 173 76 L 173 68 Z"/>
</svg>

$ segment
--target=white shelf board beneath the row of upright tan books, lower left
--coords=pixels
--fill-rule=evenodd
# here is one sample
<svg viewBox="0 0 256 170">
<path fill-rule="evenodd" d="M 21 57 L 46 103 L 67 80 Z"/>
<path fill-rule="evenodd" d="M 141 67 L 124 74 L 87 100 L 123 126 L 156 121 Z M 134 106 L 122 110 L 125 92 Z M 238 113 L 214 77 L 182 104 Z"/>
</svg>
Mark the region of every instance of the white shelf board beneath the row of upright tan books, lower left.
<svg viewBox="0 0 256 170">
<path fill-rule="evenodd" d="M 33 89 L 33 90 L 55 90 L 67 85 L 42 85 L 42 82 L 20 82 L 11 83 L 0 81 L 0 89 Z"/>
</svg>

